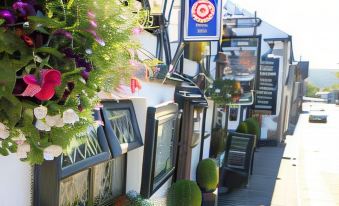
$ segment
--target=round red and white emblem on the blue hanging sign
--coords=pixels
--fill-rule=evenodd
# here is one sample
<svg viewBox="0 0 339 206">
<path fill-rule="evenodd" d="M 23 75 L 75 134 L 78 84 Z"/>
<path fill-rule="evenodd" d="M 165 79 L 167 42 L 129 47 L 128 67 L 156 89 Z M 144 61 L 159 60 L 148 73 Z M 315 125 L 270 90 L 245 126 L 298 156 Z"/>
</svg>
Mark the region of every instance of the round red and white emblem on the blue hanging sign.
<svg viewBox="0 0 339 206">
<path fill-rule="evenodd" d="M 215 15 L 215 7 L 209 0 L 198 0 L 192 6 L 192 17 L 198 23 L 207 23 Z"/>
</svg>

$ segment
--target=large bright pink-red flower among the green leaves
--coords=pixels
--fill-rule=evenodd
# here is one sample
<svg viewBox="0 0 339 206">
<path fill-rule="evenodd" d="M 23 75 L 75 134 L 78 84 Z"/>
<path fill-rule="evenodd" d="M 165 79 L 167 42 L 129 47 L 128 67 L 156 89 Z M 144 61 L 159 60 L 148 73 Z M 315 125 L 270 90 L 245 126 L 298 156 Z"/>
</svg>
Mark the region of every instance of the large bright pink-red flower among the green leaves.
<svg viewBox="0 0 339 206">
<path fill-rule="evenodd" d="M 21 96 L 34 96 L 41 101 L 47 101 L 54 96 L 55 87 L 60 86 L 61 73 L 56 69 L 43 69 L 40 80 L 32 74 L 25 75 L 23 80 L 27 87 Z"/>
</svg>

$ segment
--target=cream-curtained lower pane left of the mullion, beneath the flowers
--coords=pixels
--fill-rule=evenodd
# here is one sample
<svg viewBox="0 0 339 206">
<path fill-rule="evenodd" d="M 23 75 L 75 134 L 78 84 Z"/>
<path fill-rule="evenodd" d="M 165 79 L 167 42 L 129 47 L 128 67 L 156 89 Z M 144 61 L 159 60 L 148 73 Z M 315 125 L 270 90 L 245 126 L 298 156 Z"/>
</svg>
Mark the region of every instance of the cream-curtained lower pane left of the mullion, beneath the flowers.
<svg viewBox="0 0 339 206">
<path fill-rule="evenodd" d="M 60 206 L 88 205 L 89 170 L 82 171 L 60 183 Z"/>
</svg>

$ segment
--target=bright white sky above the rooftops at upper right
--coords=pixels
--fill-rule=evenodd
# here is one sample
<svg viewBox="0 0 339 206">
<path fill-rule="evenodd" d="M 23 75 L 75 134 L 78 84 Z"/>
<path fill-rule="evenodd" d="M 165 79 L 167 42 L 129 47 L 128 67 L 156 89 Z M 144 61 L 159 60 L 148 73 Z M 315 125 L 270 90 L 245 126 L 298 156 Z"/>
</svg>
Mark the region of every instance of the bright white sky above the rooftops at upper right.
<svg viewBox="0 0 339 206">
<path fill-rule="evenodd" d="M 223 0 L 224 1 L 224 0 Z M 225 0 L 226 1 L 226 0 Z M 338 0 L 233 0 L 293 37 L 295 59 L 339 69 Z"/>
</svg>

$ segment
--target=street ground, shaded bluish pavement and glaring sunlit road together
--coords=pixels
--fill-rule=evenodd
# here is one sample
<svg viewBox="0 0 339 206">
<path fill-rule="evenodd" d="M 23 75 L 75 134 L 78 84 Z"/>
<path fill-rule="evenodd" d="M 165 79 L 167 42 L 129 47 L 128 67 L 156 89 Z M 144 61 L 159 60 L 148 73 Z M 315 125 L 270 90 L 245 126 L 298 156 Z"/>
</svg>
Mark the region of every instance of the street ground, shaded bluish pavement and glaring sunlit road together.
<svg viewBox="0 0 339 206">
<path fill-rule="evenodd" d="M 256 152 L 249 186 L 220 194 L 218 205 L 339 206 L 339 107 L 320 106 L 326 124 L 301 114 L 285 145 Z"/>
</svg>

